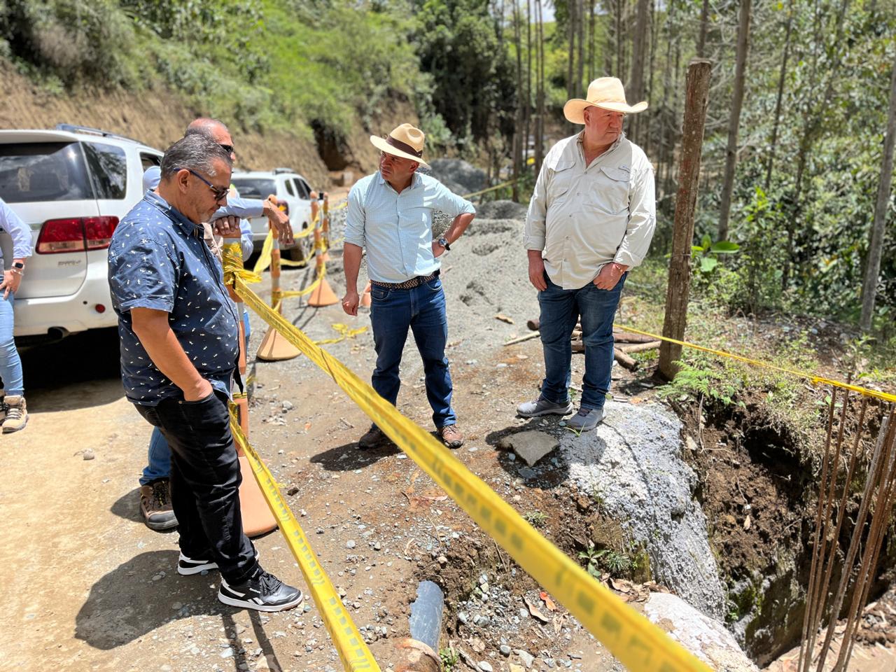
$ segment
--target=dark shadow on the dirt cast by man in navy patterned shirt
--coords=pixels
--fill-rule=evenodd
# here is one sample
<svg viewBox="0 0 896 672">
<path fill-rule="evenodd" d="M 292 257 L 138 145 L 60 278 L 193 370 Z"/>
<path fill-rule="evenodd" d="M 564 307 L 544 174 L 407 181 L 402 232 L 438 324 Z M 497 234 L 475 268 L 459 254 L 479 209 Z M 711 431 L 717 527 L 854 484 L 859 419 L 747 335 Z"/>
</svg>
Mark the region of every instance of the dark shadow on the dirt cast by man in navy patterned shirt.
<svg viewBox="0 0 896 672">
<path fill-rule="evenodd" d="M 206 577 L 180 576 L 176 567 L 177 551 L 141 553 L 118 565 L 90 588 L 75 618 L 75 638 L 109 650 L 170 621 L 231 613 L 218 602 Z M 159 572 L 166 575 L 152 581 Z"/>
</svg>

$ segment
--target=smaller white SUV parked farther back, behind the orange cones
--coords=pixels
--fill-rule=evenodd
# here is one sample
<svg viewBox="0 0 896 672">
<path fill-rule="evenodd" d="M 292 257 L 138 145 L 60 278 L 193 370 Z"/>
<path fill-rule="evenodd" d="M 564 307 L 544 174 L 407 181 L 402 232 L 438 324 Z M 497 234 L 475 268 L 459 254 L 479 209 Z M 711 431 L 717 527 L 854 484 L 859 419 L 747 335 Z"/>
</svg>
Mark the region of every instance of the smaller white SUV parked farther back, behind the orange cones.
<svg viewBox="0 0 896 672">
<path fill-rule="evenodd" d="M 291 168 L 274 168 L 271 171 L 234 171 L 230 182 L 237 187 L 241 198 L 267 198 L 274 194 L 280 201 L 286 202 L 289 221 L 294 231 L 298 232 L 311 225 L 311 186 L 305 177 Z M 255 250 L 260 250 L 264 238 L 268 235 L 266 217 L 255 217 L 249 220 L 252 225 L 252 238 Z M 296 244 L 288 248 L 289 257 L 301 261 L 306 254 L 306 238 L 297 238 Z"/>
</svg>

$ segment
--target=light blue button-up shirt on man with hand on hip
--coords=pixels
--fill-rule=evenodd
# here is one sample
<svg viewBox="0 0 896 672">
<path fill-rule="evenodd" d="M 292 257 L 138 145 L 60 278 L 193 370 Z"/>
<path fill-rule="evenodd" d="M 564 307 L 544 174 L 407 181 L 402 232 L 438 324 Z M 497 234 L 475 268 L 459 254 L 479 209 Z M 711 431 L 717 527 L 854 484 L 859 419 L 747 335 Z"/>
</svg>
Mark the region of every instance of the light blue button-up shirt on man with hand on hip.
<svg viewBox="0 0 896 672">
<path fill-rule="evenodd" d="M 476 212 L 435 177 L 414 173 L 396 192 L 377 171 L 349 192 L 345 241 L 367 248 L 367 274 L 376 282 L 404 282 L 431 275 L 442 266 L 433 256 L 433 211 L 454 219 Z"/>
</svg>

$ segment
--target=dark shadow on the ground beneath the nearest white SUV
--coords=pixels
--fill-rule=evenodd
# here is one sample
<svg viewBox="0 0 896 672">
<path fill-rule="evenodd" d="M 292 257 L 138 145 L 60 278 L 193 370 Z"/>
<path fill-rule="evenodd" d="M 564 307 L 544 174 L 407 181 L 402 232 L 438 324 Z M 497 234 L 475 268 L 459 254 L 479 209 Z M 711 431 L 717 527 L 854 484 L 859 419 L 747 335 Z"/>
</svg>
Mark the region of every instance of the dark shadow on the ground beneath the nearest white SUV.
<svg viewBox="0 0 896 672">
<path fill-rule="evenodd" d="M 31 413 L 102 406 L 125 396 L 115 328 L 24 349 L 22 373 Z"/>
</svg>

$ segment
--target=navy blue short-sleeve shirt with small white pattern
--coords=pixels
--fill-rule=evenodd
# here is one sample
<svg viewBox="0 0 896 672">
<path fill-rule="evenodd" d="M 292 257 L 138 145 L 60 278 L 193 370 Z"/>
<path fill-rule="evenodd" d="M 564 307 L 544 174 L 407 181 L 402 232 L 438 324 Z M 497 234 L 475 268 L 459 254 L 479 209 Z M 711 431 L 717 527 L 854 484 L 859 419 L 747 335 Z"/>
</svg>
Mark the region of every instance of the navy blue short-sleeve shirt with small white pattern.
<svg viewBox="0 0 896 672">
<path fill-rule="evenodd" d="M 199 375 L 229 396 L 239 357 L 237 309 L 220 263 L 202 240 L 202 227 L 149 192 L 118 224 L 108 261 L 127 398 L 155 406 L 183 397 L 134 333 L 133 308 L 168 313 L 171 331 Z"/>
</svg>

